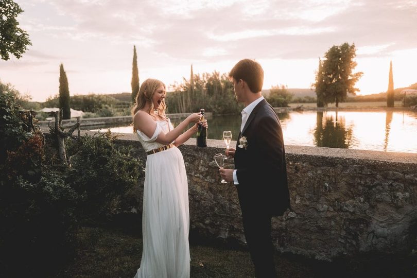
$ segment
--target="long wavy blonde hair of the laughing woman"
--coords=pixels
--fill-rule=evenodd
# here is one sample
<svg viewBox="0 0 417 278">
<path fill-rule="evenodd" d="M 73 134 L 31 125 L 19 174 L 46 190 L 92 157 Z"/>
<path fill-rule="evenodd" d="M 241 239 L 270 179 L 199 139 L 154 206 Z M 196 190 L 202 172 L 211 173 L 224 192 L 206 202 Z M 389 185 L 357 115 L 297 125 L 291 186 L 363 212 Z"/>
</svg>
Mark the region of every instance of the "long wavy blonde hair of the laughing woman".
<svg viewBox="0 0 417 278">
<path fill-rule="evenodd" d="M 157 89 L 161 85 L 164 86 L 164 90 L 166 93 L 166 86 L 162 81 L 158 79 L 152 79 L 152 78 L 148 78 L 145 81 L 143 81 L 141 88 L 139 89 L 139 92 L 137 93 L 137 96 L 136 96 L 136 103 L 132 108 L 132 117 L 136 114 L 137 111 L 145 107 L 146 102 L 149 102 L 150 104 L 148 114 L 154 117 L 153 113 L 151 113 L 154 109 L 152 97 L 153 97 L 153 94 L 157 91 Z M 158 115 L 162 118 L 166 118 L 165 110 L 166 110 L 165 99 L 163 99 L 158 108 Z M 133 123 L 131 125 L 133 126 Z"/>
</svg>

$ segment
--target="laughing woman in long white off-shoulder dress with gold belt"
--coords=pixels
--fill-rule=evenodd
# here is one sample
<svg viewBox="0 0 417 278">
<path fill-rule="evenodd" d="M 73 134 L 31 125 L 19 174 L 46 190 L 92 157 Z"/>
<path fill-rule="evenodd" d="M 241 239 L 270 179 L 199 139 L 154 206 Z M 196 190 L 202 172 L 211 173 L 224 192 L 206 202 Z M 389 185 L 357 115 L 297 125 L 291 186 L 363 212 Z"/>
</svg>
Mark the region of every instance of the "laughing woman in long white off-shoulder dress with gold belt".
<svg viewBox="0 0 417 278">
<path fill-rule="evenodd" d="M 143 251 L 138 277 L 189 277 L 188 183 L 184 160 L 177 148 L 200 123 L 190 114 L 173 128 L 165 116 L 165 84 L 145 80 L 132 109 L 133 130 L 147 152 L 143 195 Z M 195 125 L 185 132 L 190 123 Z M 203 125 L 207 127 L 207 121 Z"/>
</svg>

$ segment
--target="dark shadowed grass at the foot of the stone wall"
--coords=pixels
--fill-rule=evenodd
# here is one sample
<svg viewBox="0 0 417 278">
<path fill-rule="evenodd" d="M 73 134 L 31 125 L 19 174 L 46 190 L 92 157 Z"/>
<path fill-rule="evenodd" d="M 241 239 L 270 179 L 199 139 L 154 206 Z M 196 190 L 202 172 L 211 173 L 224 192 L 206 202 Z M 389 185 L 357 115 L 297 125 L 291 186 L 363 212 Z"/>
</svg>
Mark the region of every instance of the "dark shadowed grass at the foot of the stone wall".
<svg viewBox="0 0 417 278">
<path fill-rule="evenodd" d="M 121 229 L 83 227 L 78 231 L 74 260 L 50 277 L 133 277 L 141 262 L 142 237 Z M 244 248 L 190 242 L 191 277 L 254 277 L 250 255 Z M 411 277 L 416 273 L 415 254 L 379 260 L 363 257 L 334 263 L 290 254 L 275 254 L 279 277 Z"/>
</svg>

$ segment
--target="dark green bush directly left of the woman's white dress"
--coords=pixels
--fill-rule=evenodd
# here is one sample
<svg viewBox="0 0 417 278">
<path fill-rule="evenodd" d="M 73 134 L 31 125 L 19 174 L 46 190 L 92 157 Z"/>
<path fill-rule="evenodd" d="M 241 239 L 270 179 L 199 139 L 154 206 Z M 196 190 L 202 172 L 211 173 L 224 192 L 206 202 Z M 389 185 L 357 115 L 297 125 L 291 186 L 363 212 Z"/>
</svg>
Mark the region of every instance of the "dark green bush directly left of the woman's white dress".
<svg viewBox="0 0 417 278">
<path fill-rule="evenodd" d="M 80 214 L 97 218 L 109 214 L 112 200 L 135 186 L 141 175 L 142 162 L 130 149 L 116 149 L 117 136 L 106 133 L 67 140 L 67 155 L 73 156 L 67 182 L 83 197 Z"/>
</svg>

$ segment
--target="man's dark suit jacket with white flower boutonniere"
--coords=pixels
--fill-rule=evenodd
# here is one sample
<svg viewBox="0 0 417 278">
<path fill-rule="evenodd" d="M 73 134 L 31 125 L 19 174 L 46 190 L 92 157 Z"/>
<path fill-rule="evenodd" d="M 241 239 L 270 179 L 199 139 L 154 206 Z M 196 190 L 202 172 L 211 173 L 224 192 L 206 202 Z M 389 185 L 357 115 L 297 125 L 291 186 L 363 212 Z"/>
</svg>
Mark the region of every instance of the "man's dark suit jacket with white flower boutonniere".
<svg viewBox="0 0 417 278">
<path fill-rule="evenodd" d="M 243 136 L 246 148 L 239 147 Z M 235 169 L 242 213 L 279 216 L 290 208 L 281 123 L 265 99 L 252 110 L 239 133 Z"/>
</svg>

